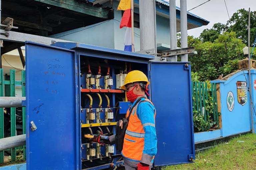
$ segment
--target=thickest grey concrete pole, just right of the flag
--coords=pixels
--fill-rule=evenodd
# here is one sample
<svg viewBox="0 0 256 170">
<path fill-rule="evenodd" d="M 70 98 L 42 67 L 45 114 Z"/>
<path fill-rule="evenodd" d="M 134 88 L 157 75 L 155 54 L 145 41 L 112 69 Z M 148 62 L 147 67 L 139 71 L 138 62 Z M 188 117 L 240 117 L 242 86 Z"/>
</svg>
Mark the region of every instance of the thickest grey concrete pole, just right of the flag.
<svg viewBox="0 0 256 170">
<path fill-rule="evenodd" d="M 140 9 L 140 50 L 156 48 L 155 0 L 142 0 Z"/>
</svg>

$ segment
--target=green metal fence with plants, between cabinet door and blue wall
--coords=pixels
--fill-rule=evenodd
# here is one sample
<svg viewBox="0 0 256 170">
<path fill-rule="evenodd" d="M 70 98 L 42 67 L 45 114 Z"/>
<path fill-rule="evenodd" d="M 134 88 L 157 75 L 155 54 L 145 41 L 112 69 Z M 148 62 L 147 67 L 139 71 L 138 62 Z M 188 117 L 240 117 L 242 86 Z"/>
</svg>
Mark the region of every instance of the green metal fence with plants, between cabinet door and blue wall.
<svg viewBox="0 0 256 170">
<path fill-rule="evenodd" d="M 219 128 L 216 84 L 192 81 L 194 131 Z"/>
</svg>

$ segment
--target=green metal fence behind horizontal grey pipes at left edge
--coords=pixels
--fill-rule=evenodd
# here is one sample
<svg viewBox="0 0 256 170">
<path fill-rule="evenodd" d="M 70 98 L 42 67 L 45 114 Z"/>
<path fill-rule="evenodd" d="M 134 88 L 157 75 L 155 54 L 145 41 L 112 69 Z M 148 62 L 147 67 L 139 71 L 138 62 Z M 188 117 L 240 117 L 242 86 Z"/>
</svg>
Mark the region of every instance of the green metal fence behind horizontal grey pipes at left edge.
<svg viewBox="0 0 256 170">
<path fill-rule="evenodd" d="M 25 71 L 21 71 L 21 81 L 15 81 L 15 69 L 10 70 L 9 75 L 3 75 L 3 69 L 0 69 L 0 96 L 6 97 L 15 97 L 15 87 L 21 86 L 22 96 L 25 97 Z M 4 111 L 3 108 L 0 108 L 0 138 L 15 136 L 16 135 L 16 108 L 10 108 L 10 118 L 5 114 L 7 109 Z M 25 108 L 22 108 L 22 132 L 26 133 L 26 112 Z M 9 120 L 8 120 L 9 119 Z M 6 123 L 10 121 L 10 127 L 6 127 Z M 10 134 L 6 134 L 6 129 L 10 128 Z M 6 153 L 11 153 L 11 162 L 21 161 L 17 160 L 16 150 L 19 149 L 23 154 L 23 159 L 26 160 L 26 151 L 25 146 L 12 148 L 6 150 Z M 4 163 L 4 151 L 0 152 L 0 164 Z"/>
</svg>

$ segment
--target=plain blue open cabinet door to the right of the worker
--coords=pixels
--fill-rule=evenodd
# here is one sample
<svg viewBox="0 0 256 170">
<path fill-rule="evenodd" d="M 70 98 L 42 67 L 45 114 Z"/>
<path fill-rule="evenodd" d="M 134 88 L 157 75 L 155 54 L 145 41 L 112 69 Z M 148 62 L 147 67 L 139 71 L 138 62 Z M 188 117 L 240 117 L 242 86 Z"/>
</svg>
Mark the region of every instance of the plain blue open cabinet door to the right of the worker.
<svg viewBox="0 0 256 170">
<path fill-rule="evenodd" d="M 195 159 L 190 65 L 187 64 L 150 62 L 151 100 L 156 108 L 155 166 L 190 163 Z"/>
</svg>

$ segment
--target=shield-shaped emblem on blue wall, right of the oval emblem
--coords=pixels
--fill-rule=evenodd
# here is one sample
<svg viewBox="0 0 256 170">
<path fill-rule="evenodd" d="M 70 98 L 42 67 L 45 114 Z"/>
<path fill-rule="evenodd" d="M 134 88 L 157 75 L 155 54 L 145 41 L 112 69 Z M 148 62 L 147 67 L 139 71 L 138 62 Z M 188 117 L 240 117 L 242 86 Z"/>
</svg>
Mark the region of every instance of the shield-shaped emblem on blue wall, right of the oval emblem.
<svg viewBox="0 0 256 170">
<path fill-rule="evenodd" d="M 247 86 L 245 81 L 237 81 L 236 89 L 237 89 L 237 101 L 242 106 L 247 102 Z"/>
</svg>

